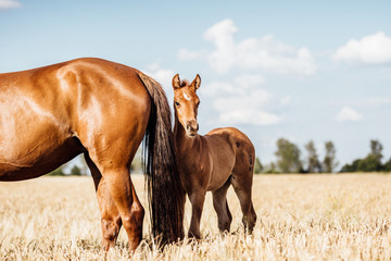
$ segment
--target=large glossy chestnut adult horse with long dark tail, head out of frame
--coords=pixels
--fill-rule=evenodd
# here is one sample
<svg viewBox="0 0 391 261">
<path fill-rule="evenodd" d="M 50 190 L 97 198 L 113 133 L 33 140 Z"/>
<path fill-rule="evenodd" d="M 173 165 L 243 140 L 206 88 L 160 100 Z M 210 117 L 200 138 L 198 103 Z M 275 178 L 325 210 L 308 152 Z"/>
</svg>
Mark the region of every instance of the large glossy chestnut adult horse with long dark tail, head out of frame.
<svg viewBox="0 0 391 261">
<path fill-rule="evenodd" d="M 171 111 L 151 77 L 100 59 L 0 74 L 0 181 L 38 177 L 84 153 L 105 250 L 122 225 L 131 250 L 142 238 L 144 210 L 129 166 L 146 136 L 153 234 L 164 243 L 182 236 Z"/>
</svg>

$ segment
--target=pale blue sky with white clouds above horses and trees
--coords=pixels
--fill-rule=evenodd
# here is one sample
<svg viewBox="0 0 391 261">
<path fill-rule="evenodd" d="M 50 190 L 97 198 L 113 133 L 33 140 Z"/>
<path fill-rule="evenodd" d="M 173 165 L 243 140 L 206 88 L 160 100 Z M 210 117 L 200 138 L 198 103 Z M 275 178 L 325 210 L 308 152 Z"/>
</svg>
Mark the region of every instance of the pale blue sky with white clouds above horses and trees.
<svg viewBox="0 0 391 261">
<path fill-rule="evenodd" d="M 156 78 L 201 75 L 201 133 L 236 126 L 263 163 L 276 140 L 332 140 L 340 165 L 391 157 L 390 1 L 0 0 L 0 72 L 99 57 Z"/>
</svg>

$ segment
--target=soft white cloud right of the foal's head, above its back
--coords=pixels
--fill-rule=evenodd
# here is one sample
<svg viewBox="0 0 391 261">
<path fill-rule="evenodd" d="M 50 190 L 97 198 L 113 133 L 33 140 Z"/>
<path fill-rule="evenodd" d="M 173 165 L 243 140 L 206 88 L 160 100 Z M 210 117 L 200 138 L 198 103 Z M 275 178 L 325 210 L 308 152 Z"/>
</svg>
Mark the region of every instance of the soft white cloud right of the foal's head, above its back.
<svg viewBox="0 0 391 261">
<path fill-rule="evenodd" d="M 239 97 L 217 98 L 213 105 L 219 113 L 219 124 L 274 125 L 281 122 L 282 116 L 263 109 L 272 98 L 273 95 L 267 90 L 257 89 Z"/>
</svg>

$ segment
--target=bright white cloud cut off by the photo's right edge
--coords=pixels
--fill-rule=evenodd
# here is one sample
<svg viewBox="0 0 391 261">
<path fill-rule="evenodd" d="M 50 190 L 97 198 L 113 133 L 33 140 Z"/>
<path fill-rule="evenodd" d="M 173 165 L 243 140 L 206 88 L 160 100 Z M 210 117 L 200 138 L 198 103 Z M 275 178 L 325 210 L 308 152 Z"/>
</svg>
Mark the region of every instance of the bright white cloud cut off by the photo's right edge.
<svg viewBox="0 0 391 261">
<path fill-rule="evenodd" d="M 338 48 L 332 55 L 335 61 L 382 64 L 391 62 L 391 38 L 379 32 L 361 40 L 351 39 Z"/>
</svg>

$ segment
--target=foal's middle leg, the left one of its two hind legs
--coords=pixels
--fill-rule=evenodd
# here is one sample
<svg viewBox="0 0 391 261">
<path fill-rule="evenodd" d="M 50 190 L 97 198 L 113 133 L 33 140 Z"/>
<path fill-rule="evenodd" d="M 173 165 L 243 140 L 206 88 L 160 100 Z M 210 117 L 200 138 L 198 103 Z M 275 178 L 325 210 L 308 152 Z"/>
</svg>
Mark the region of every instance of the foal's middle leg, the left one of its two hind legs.
<svg viewBox="0 0 391 261">
<path fill-rule="evenodd" d="M 218 229 L 223 233 L 225 231 L 229 232 L 230 224 L 232 221 L 232 215 L 228 208 L 227 202 L 227 190 L 230 185 L 230 177 L 227 182 L 217 190 L 213 191 L 213 207 L 217 213 L 218 219 Z"/>
</svg>

